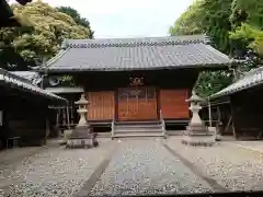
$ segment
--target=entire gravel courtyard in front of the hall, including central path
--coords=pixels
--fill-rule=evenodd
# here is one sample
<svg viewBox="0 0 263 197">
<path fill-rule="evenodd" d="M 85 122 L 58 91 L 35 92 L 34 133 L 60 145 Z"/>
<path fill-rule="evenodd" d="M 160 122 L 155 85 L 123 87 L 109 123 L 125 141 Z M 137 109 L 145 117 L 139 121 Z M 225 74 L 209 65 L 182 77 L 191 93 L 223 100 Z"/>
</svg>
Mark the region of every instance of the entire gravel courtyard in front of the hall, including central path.
<svg viewBox="0 0 263 197">
<path fill-rule="evenodd" d="M 49 147 L 32 155 L 28 149 L 31 155 L 18 161 L 11 155 L 21 152 L 3 153 L 0 197 L 263 189 L 263 154 L 232 142 L 193 148 L 179 138 L 100 140 L 90 150 Z"/>
</svg>

